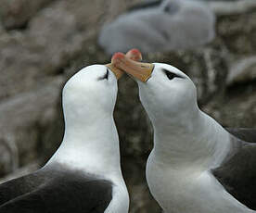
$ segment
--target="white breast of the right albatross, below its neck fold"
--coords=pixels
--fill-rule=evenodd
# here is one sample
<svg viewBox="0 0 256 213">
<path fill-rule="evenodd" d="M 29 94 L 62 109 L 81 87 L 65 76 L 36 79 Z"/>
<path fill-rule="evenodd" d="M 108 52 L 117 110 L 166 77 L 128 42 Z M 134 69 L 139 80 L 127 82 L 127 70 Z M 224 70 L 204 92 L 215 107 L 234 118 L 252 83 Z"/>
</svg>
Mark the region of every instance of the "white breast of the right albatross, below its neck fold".
<svg viewBox="0 0 256 213">
<path fill-rule="evenodd" d="M 228 194 L 210 171 L 171 169 L 153 156 L 147 159 L 147 184 L 165 213 L 255 213 Z"/>
</svg>

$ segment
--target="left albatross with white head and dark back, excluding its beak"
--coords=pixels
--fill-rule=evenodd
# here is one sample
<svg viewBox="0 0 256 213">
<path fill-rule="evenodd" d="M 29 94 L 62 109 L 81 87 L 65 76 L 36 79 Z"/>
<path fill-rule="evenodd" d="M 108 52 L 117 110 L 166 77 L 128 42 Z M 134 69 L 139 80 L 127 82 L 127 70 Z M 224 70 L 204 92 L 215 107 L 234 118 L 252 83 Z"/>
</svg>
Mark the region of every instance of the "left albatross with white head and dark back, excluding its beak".
<svg viewBox="0 0 256 213">
<path fill-rule="evenodd" d="M 116 95 L 115 75 L 103 65 L 66 83 L 63 142 L 44 168 L 0 185 L 1 213 L 128 212 L 112 117 Z"/>
</svg>

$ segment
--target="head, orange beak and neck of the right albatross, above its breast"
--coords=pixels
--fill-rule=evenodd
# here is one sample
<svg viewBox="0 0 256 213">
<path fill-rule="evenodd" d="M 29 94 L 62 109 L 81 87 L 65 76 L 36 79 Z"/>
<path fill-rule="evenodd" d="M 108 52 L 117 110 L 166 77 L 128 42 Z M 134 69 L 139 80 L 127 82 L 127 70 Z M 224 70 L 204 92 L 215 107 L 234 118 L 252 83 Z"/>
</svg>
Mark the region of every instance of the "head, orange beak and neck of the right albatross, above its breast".
<svg viewBox="0 0 256 213">
<path fill-rule="evenodd" d="M 197 88 L 179 69 L 162 63 L 134 62 L 119 53 L 113 64 L 132 75 L 154 128 L 154 156 L 173 168 L 208 167 L 221 128 L 197 103 Z M 209 141 L 211 138 L 212 141 Z"/>
</svg>

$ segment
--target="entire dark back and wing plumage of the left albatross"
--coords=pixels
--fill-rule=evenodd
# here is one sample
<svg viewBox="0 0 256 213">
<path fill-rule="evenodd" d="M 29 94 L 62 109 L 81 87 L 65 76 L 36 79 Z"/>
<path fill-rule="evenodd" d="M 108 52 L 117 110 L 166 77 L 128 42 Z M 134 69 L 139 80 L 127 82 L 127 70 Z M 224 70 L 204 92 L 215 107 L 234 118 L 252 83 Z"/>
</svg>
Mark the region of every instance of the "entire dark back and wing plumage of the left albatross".
<svg viewBox="0 0 256 213">
<path fill-rule="evenodd" d="M 1 213 L 103 213 L 112 199 L 112 183 L 79 170 L 51 168 L 6 182 L 0 193 L 8 200 L 0 206 Z"/>
</svg>

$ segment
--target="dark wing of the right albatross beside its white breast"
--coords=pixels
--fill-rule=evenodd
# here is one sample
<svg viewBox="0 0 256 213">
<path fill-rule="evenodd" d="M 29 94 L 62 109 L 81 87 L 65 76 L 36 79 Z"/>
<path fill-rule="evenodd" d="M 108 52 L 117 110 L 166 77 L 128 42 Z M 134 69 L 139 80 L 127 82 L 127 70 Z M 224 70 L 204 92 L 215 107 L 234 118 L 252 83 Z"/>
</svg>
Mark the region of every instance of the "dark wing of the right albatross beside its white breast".
<svg viewBox="0 0 256 213">
<path fill-rule="evenodd" d="M 229 194 L 256 210 L 256 144 L 245 143 L 235 137 L 232 140 L 240 145 L 220 167 L 211 170 L 212 174 Z"/>
</svg>

